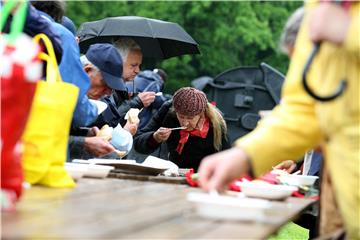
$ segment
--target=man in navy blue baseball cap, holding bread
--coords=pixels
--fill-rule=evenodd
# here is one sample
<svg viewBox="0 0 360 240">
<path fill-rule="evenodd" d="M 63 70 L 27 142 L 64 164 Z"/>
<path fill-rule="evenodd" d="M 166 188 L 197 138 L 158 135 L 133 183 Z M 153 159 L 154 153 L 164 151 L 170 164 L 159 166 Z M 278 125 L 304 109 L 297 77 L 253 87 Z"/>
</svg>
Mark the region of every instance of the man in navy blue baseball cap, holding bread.
<svg viewBox="0 0 360 240">
<path fill-rule="evenodd" d="M 121 78 L 121 57 L 111 44 L 91 45 L 86 54 L 81 56 L 81 63 L 91 80 L 91 87 L 87 92 L 90 99 L 98 100 L 110 95 L 112 90 L 126 88 Z M 130 125 L 127 125 L 127 129 L 128 127 Z M 70 159 L 102 157 L 114 152 L 115 148 L 107 140 L 96 136 L 98 132 L 99 129 L 93 127 L 86 132 L 86 136 L 70 136 Z"/>
</svg>

